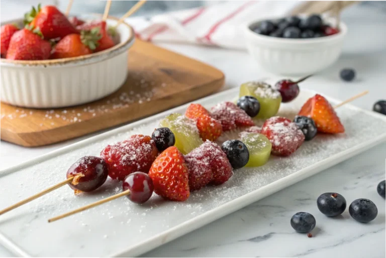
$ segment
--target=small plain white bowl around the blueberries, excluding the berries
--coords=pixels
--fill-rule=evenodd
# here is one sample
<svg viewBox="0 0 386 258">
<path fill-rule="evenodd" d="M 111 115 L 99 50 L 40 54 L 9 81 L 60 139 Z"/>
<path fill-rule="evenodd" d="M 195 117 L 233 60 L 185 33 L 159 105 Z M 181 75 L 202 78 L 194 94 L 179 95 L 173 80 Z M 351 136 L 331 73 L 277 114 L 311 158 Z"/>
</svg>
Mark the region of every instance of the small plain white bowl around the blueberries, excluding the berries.
<svg viewBox="0 0 386 258">
<path fill-rule="evenodd" d="M 324 21 L 334 24 L 332 18 Z M 340 32 L 331 36 L 310 39 L 275 38 L 253 32 L 252 29 L 260 22 L 243 27 L 247 49 L 261 68 L 283 75 L 313 74 L 327 68 L 339 58 L 347 33 L 346 25 L 341 22 Z"/>
</svg>

